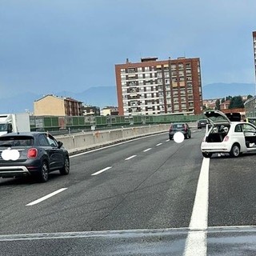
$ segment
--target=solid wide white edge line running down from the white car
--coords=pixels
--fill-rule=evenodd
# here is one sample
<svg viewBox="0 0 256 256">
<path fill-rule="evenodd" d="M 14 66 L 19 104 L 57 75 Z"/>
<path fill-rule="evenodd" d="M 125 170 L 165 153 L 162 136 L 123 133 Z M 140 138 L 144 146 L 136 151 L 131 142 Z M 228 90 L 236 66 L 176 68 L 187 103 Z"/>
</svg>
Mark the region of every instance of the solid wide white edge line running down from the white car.
<svg viewBox="0 0 256 256">
<path fill-rule="evenodd" d="M 210 158 L 203 158 L 190 219 L 190 232 L 186 238 L 186 247 L 183 254 L 185 256 L 205 256 L 207 254 L 209 166 Z"/>
</svg>

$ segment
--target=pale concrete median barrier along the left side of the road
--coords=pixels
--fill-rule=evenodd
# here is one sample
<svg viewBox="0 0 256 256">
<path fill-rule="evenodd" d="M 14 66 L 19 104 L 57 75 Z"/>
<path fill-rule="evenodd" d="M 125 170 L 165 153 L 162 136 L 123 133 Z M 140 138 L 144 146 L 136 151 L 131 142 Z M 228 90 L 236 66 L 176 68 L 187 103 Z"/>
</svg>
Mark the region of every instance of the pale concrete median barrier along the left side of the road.
<svg viewBox="0 0 256 256">
<path fill-rule="evenodd" d="M 130 127 L 115 130 L 97 130 L 78 134 L 66 134 L 55 136 L 70 153 L 82 150 L 90 150 L 99 146 L 110 145 L 114 142 L 122 142 L 131 138 L 138 138 L 147 134 L 167 133 L 170 125 Z"/>
</svg>

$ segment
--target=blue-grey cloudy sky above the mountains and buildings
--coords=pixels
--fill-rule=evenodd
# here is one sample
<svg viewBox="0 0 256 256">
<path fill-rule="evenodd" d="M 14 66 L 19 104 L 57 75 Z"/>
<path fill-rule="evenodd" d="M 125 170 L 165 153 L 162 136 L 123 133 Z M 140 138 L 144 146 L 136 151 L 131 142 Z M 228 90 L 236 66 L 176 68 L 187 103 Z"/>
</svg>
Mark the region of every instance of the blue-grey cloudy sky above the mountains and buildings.
<svg viewBox="0 0 256 256">
<path fill-rule="evenodd" d="M 202 85 L 254 83 L 255 0 L 0 0 L 0 98 L 115 86 L 114 65 L 200 58 Z"/>
</svg>

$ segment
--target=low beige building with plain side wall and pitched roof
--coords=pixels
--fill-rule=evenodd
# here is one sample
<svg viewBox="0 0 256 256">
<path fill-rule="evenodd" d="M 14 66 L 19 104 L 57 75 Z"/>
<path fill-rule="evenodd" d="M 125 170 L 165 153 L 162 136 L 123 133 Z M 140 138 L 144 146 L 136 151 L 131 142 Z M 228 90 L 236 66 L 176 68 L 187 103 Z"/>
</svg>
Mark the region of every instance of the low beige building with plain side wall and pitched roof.
<svg viewBox="0 0 256 256">
<path fill-rule="evenodd" d="M 82 102 L 47 94 L 34 101 L 34 115 L 82 116 Z"/>
</svg>

